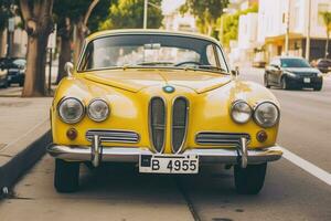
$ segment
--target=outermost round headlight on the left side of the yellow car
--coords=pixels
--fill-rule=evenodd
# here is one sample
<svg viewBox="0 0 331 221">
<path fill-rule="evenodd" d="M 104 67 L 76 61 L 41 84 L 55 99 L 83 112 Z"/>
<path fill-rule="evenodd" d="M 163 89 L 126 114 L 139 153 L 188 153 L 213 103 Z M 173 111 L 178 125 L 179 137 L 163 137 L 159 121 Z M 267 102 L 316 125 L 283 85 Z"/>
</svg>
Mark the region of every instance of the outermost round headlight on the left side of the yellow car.
<svg viewBox="0 0 331 221">
<path fill-rule="evenodd" d="M 84 105 L 74 97 L 67 97 L 58 104 L 58 115 L 63 122 L 67 124 L 75 124 L 84 116 Z"/>
</svg>

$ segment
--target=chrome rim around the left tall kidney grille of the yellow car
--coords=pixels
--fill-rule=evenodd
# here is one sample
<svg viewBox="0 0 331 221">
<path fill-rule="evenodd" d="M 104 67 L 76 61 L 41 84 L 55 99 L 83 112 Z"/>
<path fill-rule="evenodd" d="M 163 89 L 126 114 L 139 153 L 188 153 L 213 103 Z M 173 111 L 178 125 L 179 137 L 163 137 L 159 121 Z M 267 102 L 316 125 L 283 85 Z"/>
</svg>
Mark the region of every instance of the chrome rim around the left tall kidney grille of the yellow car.
<svg viewBox="0 0 331 221">
<path fill-rule="evenodd" d="M 151 125 L 151 102 L 154 98 L 160 98 L 163 102 L 164 105 L 164 134 L 163 134 L 163 145 L 160 151 L 157 150 L 157 148 L 154 147 L 154 143 L 153 143 L 153 137 L 152 137 L 152 125 Z M 154 152 L 163 152 L 164 148 L 166 148 L 166 141 L 167 141 L 167 119 L 168 119 L 168 106 L 167 106 L 167 101 L 161 97 L 161 96 L 153 96 L 151 97 L 151 99 L 149 101 L 149 105 L 148 105 L 148 133 L 149 133 L 149 140 L 151 144 L 152 149 L 154 150 Z"/>
</svg>

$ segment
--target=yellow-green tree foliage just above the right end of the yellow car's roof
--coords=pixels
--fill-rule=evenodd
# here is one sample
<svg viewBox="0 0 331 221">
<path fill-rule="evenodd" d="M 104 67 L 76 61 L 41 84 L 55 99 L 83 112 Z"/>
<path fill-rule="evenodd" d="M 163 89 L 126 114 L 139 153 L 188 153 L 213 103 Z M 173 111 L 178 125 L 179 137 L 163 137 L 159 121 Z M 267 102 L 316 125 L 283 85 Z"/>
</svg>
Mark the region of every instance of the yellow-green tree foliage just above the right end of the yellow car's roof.
<svg viewBox="0 0 331 221">
<path fill-rule="evenodd" d="M 223 9 L 227 4 L 228 0 L 186 0 L 180 11 L 193 14 L 199 31 L 213 35 L 216 30 L 216 21 L 223 14 Z"/>
</svg>

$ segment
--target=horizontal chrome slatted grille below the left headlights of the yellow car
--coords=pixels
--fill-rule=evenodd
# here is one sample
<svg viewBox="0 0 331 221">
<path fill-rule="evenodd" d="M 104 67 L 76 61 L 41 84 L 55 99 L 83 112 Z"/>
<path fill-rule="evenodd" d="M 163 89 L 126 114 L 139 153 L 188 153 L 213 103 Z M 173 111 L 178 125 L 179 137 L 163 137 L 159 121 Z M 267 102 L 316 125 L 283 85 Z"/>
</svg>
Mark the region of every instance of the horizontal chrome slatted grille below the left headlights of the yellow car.
<svg viewBox="0 0 331 221">
<path fill-rule="evenodd" d="M 103 143 L 129 143 L 139 141 L 139 134 L 128 130 L 108 130 L 108 129 L 90 129 L 86 133 L 86 139 L 92 141 L 95 135 L 99 136 Z"/>
</svg>

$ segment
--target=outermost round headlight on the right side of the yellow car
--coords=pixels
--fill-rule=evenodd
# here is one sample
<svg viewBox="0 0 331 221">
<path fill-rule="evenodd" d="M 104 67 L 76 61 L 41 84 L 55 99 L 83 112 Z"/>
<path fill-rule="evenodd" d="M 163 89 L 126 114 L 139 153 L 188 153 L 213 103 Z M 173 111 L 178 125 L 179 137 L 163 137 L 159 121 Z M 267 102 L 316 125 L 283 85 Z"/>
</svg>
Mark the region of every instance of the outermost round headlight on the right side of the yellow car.
<svg viewBox="0 0 331 221">
<path fill-rule="evenodd" d="M 275 104 L 264 102 L 255 108 L 254 119 L 261 127 L 273 127 L 278 123 L 279 109 Z"/>
</svg>

